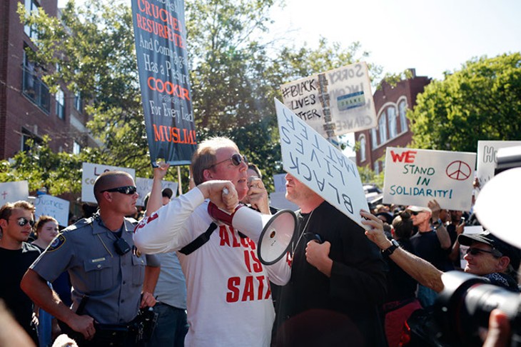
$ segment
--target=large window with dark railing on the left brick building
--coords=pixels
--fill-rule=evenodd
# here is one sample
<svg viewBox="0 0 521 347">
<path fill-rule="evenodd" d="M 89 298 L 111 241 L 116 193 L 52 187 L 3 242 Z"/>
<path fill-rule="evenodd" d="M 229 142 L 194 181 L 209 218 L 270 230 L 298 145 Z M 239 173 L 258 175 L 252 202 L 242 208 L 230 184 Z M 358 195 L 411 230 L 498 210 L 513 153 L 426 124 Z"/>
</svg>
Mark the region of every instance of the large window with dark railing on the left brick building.
<svg viewBox="0 0 521 347">
<path fill-rule="evenodd" d="M 39 66 L 36 66 L 32 61 L 29 61 L 26 52 L 24 51 L 24 71 L 22 74 L 22 91 L 34 104 L 38 105 L 40 109 L 49 113 L 51 110 L 51 96 L 49 95 L 49 88 L 41 81 L 39 76 Z"/>
</svg>

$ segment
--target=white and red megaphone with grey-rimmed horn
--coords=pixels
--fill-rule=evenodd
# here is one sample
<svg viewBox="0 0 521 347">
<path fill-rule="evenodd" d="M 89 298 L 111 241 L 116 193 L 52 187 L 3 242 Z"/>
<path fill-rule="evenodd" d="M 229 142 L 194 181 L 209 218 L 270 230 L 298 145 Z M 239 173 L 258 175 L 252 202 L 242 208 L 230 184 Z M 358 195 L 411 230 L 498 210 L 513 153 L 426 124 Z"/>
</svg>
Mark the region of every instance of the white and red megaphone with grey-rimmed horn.
<svg viewBox="0 0 521 347">
<path fill-rule="evenodd" d="M 228 213 L 210 202 L 208 213 L 256 241 L 257 256 L 265 265 L 274 264 L 285 256 L 297 227 L 297 216 L 291 210 L 280 210 L 271 216 L 238 205 L 233 213 Z"/>
</svg>

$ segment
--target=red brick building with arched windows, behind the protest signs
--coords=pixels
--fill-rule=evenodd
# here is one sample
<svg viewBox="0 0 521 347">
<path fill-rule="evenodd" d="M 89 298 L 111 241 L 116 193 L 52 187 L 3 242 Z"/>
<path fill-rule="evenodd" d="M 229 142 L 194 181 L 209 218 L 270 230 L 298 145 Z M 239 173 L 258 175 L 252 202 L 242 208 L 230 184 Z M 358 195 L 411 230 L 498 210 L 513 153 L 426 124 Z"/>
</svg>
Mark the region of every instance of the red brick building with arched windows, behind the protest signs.
<svg viewBox="0 0 521 347">
<path fill-rule="evenodd" d="M 360 143 L 356 153 L 356 164 L 368 166 L 379 174 L 384 169 L 385 149 L 391 147 L 405 147 L 410 144 L 413 134 L 405 113 L 416 104 L 416 96 L 423 92 L 430 83 L 426 76 L 416 76 L 400 81 L 396 86 L 383 82 L 375 92 L 376 116 L 378 126 L 373 129 L 355 132 L 355 141 Z"/>
</svg>

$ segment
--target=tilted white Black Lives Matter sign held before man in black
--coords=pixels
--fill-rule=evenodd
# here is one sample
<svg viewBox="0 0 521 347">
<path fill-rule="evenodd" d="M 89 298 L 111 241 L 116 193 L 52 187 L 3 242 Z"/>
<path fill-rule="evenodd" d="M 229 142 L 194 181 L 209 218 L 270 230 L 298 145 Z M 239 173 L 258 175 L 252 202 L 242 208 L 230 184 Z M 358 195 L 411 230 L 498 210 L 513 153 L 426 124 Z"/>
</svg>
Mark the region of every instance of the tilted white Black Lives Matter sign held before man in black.
<svg viewBox="0 0 521 347">
<path fill-rule="evenodd" d="M 275 99 L 283 169 L 360 226 L 368 210 L 358 169 L 341 151 Z"/>
</svg>

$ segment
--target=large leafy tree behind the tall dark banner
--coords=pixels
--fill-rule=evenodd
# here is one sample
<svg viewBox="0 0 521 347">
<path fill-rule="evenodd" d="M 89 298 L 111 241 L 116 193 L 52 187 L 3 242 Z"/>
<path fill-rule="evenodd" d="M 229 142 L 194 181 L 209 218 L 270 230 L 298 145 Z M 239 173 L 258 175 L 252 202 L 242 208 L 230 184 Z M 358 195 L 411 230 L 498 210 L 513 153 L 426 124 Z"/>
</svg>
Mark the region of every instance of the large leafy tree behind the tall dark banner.
<svg viewBox="0 0 521 347">
<path fill-rule="evenodd" d="M 367 52 L 360 52 L 359 43 L 343 48 L 322 39 L 317 49 L 280 46 L 268 31 L 272 6 L 274 1 L 263 0 L 186 1 L 198 141 L 208 136 L 231 137 L 263 171 L 268 187 L 273 186 L 273 173 L 280 171 L 273 105 L 273 97 L 281 99 L 280 84 L 368 57 Z M 132 167 L 137 176 L 150 177 L 129 4 L 87 0 L 76 6 L 71 1 L 61 19 L 43 11 L 25 14 L 20 5 L 19 14 L 39 33 L 35 41 L 38 50 L 28 53 L 49 68 L 46 83 L 51 87 L 64 84 L 90 101 L 86 111 L 91 121 L 87 126 L 104 144 L 98 149 L 84 149 L 86 154 L 82 151 L 74 163 L 68 164 L 69 176 L 76 182 L 69 189 L 79 192 L 85 157 L 93 163 Z M 381 71 L 378 66 L 370 69 L 377 76 Z M 45 146 L 39 146 L 39 151 L 48 153 Z M 30 176 L 29 166 L 16 170 L 28 163 L 26 155 L 16 156 L 14 164 L 4 163 L 7 180 Z M 45 166 L 46 171 L 53 171 L 49 177 L 60 175 L 61 164 L 56 160 Z M 44 184 L 49 191 L 64 192 L 61 188 L 53 190 L 53 180 Z"/>
</svg>

